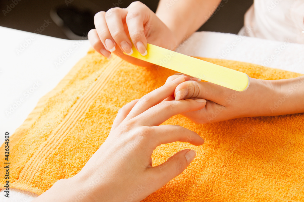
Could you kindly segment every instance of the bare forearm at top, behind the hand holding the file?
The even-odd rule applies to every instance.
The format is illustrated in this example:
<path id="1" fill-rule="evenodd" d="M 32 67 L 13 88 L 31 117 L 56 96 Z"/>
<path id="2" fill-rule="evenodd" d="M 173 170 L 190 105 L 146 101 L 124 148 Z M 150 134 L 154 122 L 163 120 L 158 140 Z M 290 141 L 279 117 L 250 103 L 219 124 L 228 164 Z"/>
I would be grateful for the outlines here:
<path id="1" fill-rule="evenodd" d="M 220 0 L 160 0 L 156 15 L 171 29 L 178 43 L 201 27 Z"/>

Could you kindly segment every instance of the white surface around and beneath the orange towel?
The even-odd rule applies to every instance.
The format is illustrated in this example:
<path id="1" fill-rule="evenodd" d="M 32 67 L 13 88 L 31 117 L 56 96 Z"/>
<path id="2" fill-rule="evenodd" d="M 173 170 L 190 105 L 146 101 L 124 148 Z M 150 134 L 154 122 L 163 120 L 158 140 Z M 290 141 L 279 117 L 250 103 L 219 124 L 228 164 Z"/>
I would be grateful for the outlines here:
<path id="1" fill-rule="evenodd" d="M 90 45 L 88 40 L 64 40 L 4 27 L 0 27 L 0 36 L 0 142 L 3 143 L 4 133 L 9 131 L 13 134 L 39 98 L 51 91 L 74 64 L 86 55 Z M 24 50 L 22 46 L 26 46 Z M 65 57 L 69 51 L 71 54 Z M 302 44 L 196 32 L 177 51 L 186 55 L 244 61 L 304 74 Z M 63 61 L 59 61 L 60 58 Z M 62 63 L 58 65 L 56 62 Z M 23 101 L 18 102 L 20 99 Z M 11 114 L 7 113 L 11 107 Z M 3 190 L 0 191 L 0 201 L 26 202 L 36 197 L 30 192 L 16 189 L 10 189 L 9 196 L 4 197 Z"/>

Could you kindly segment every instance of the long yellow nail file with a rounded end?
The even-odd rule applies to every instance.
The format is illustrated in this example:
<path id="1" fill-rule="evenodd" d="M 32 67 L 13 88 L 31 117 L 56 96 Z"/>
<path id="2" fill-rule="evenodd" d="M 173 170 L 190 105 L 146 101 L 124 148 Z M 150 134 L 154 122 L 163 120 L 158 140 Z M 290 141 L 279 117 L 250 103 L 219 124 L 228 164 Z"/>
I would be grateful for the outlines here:
<path id="1" fill-rule="evenodd" d="M 130 56 L 134 58 L 200 78 L 235 91 L 245 91 L 249 86 L 249 76 L 243 72 L 170 51 L 166 48 L 148 44 L 148 54 L 145 56 L 142 56 L 134 45 L 132 50 L 133 54 Z"/>

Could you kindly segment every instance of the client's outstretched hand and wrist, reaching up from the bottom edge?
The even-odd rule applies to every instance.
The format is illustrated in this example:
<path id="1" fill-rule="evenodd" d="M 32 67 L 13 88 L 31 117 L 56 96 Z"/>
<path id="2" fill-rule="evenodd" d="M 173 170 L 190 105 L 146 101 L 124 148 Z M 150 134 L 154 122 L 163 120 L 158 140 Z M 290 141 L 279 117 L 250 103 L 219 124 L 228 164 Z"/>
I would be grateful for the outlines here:
<path id="1" fill-rule="evenodd" d="M 195 158 L 194 150 L 179 151 L 155 167 L 151 155 L 161 144 L 204 143 L 194 131 L 178 125 L 160 126 L 176 114 L 205 107 L 203 99 L 168 100 L 185 78 L 189 79 L 171 76 L 160 88 L 121 108 L 109 136 L 82 170 L 57 181 L 36 201 L 140 201 L 184 171 Z"/>

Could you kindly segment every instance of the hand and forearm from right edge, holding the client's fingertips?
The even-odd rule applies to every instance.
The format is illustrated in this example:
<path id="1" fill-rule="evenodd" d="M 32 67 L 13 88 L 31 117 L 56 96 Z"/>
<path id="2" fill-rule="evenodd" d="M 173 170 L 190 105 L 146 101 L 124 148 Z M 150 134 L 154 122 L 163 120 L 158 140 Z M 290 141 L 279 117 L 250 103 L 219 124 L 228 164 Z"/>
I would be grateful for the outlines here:
<path id="1" fill-rule="evenodd" d="M 304 112 L 304 76 L 274 81 L 250 78 L 250 85 L 243 92 L 209 82 L 185 81 L 178 85 L 174 95 L 175 100 L 207 100 L 205 108 L 182 114 L 199 124 L 301 113 Z"/>

